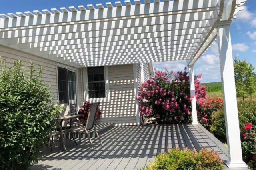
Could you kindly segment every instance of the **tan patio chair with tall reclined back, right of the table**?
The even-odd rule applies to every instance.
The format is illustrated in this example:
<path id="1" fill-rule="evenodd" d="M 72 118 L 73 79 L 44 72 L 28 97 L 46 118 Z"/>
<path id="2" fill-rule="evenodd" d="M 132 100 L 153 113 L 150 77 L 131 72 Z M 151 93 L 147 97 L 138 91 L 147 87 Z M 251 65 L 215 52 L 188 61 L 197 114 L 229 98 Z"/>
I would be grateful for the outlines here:
<path id="1" fill-rule="evenodd" d="M 79 142 L 81 143 L 81 134 L 83 132 L 85 132 L 90 140 L 90 143 L 92 144 L 92 147 L 94 148 L 94 145 L 92 143 L 92 140 L 90 138 L 90 130 L 94 129 L 95 132 L 96 132 L 96 135 L 98 136 L 98 139 L 100 140 L 100 136 L 96 130 L 96 128 L 94 127 L 94 122 L 95 122 L 95 117 L 96 117 L 96 112 L 98 110 L 98 106 L 99 106 L 100 102 L 97 102 L 97 103 L 92 103 L 91 105 L 91 108 L 90 108 L 90 112 L 89 112 L 89 115 L 88 115 L 88 118 L 87 118 L 87 122 L 86 122 L 86 126 L 84 126 L 83 124 L 81 124 L 80 122 L 73 122 L 74 124 L 78 125 L 77 127 L 74 127 L 74 128 L 70 128 L 70 129 L 67 129 L 67 125 L 70 124 L 70 122 L 67 123 L 66 125 L 66 128 L 65 128 L 65 136 L 64 136 L 64 139 L 66 139 L 66 134 L 68 132 L 70 132 L 70 134 L 72 133 L 79 133 Z M 65 141 L 64 141 L 65 142 Z M 75 139 L 74 139 L 74 142 L 75 142 Z M 101 146 L 103 145 L 101 140 L 100 140 L 100 144 Z M 95 149 L 95 148 L 94 148 Z"/>

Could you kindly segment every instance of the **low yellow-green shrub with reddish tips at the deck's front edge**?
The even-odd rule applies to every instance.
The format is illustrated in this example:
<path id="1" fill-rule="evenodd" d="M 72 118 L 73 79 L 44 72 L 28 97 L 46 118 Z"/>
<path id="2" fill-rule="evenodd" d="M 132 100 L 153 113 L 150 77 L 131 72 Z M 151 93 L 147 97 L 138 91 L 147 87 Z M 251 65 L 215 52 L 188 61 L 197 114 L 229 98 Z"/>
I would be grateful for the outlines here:
<path id="1" fill-rule="evenodd" d="M 147 170 L 222 170 L 223 161 L 214 151 L 202 148 L 200 152 L 188 148 L 172 148 L 168 153 L 159 153 L 150 162 Z M 142 168 L 144 169 L 144 168 Z"/>

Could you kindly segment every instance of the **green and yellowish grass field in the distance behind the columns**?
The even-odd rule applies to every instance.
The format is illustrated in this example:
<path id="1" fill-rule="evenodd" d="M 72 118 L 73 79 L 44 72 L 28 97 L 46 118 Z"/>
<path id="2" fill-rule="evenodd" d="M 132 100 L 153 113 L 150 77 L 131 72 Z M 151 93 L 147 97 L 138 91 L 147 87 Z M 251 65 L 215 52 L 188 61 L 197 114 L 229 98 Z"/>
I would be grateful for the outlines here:
<path id="1" fill-rule="evenodd" d="M 222 97 L 222 85 L 221 82 L 212 82 L 212 83 L 201 83 L 207 87 L 207 99 L 210 98 L 223 98 Z M 237 98 L 238 101 L 242 101 L 242 98 Z M 244 100 L 251 100 L 251 97 L 245 98 Z M 256 93 L 252 94 L 252 100 L 256 101 Z"/>

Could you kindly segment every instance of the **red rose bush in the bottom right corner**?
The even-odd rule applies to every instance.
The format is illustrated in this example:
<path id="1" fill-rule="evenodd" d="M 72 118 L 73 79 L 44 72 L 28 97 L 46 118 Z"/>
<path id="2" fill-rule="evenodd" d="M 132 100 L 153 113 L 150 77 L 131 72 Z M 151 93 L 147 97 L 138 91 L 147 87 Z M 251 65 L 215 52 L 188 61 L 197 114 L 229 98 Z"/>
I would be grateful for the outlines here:
<path id="1" fill-rule="evenodd" d="M 250 147 L 247 148 L 247 150 L 250 152 L 250 161 L 248 165 L 252 169 L 256 169 L 256 133 L 255 133 L 255 127 L 253 127 L 251 124 L 246 124 L 244 128 L 241 130 L 244 132 L 242 134 L 243 142 L 247 142 L 250 144 Z"/>

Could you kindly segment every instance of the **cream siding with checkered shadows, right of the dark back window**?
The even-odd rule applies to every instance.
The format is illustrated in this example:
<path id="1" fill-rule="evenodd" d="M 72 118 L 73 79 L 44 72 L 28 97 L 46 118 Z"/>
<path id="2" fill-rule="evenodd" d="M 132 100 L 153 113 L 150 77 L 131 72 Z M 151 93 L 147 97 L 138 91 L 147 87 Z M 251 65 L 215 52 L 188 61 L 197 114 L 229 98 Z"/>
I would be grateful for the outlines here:
<path id="1" fill-rule="evenodd" d="M 108 76 L 109 102 L 100 103 L 102 116 L 98 122 L 136 124 L 133 65 L 108 66 Z"/>

